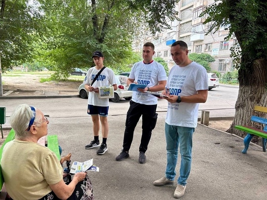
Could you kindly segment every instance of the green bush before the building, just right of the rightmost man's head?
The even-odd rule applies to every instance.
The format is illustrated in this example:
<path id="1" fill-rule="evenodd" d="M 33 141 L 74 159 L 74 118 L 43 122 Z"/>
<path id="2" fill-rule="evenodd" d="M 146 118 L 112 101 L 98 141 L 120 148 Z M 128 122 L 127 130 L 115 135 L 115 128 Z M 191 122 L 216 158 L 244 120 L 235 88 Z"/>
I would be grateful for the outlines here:
<path id="1" fill-rule="evenodd" d="M 214 62 L 215 59 L 208 53 L 190 53 L 189 59 L 202 65 L 207 72 L 211 72 L 210 63 Z"/>

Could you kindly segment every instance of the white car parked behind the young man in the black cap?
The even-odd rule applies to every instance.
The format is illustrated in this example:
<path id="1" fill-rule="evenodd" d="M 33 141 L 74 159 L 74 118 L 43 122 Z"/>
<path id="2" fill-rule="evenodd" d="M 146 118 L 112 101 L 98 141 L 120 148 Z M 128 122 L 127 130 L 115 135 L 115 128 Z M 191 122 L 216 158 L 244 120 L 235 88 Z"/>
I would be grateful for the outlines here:
<path id="1" fill-rule="evenodd" d="M 111 98 L 110 100 L 112 102 L 119 102 L 120 99 L 125 98 L 125 100 L 130 101 L 133 96 L 133 91 L 128 91 L 128 86 L 126 84 L 128 77 L 122 76 L 122 75 L 115 75 L 115 80 L 117 83 L 118 88 L 114 91 L 114 98 Z M 88 90 L 85 89 L 85 83 L 82 83 L 79 86 L 79 94 L 80 97 L 83 99 L 88 98 Z"/>

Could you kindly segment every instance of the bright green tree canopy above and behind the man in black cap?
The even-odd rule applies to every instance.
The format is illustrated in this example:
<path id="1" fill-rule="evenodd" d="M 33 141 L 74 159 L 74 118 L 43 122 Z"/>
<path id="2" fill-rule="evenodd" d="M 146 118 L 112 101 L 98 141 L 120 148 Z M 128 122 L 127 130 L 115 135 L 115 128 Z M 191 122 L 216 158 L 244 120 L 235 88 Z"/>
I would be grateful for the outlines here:
<path id="1" fill-rule="evenodd" d="M 2 0 L 3 71 L 27 63 L 30 70 L 54 70 L 52 77 L 64 80 L 76 67 L 93 66 L 95 50 L 104 53 L 105 65 L 129 71 L 137 60 L 132 52 L 134 37 L 170 28 L 167 18 L 178 20 L 178 1 Z"/>

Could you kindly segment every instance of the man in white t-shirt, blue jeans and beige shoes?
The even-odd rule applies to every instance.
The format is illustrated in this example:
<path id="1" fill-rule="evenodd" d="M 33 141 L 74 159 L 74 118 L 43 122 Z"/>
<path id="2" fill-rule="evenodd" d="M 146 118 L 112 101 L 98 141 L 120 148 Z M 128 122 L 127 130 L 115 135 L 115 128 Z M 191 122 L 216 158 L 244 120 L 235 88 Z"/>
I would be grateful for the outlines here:
<path id="1" fill-rule="evenodd" d="M 172 44 L 171 54 L 176 65 L 170 70 L 163 95 L 168 101 L 165 120 L 167 167 L 165 176 L 154 181 L 155 186 L 173 184 L 176 176 L 178 147 L 181 163 L 175 198 L 184 195 L 186 180 L 191 169 L 192 136 L 197 126 L 199 103 L 208 97 L 206 69 L 188 58 L 187 44 L 178 40 Z"/>

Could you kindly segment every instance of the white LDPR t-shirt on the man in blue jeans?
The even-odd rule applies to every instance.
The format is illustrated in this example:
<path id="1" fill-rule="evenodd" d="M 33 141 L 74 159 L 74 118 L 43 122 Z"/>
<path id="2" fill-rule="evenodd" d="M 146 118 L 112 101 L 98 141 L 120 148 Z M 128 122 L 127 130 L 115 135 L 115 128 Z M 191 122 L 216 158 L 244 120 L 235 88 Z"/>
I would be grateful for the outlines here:
<path id="1" fill-rule="evenodd" d="M 166 88 L 170 94 L 177 96 L 190 96 L 197 94 L 198 90 L 207 90 L 208 74 L 206 69 L 192 62 L 185 67 L 175 65 L 169 73 Z M 166 123 L 184 127 L 196 127 L 199 103 L 170 103 Z"/>

